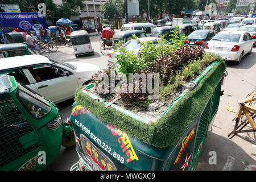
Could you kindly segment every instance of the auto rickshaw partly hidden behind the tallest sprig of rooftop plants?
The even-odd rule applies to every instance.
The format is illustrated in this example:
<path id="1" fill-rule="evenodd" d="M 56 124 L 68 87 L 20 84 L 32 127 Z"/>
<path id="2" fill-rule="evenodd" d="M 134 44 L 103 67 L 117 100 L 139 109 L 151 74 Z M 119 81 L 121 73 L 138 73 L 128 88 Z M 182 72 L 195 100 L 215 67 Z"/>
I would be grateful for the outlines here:
<path id="1" fill-rule="evenodd" d="M 174 26 L 155 27 L 152 31 L 152 36 L 160 38 L 160 36 L 163 35 L 164 39 L 170 42 L 172 38 L 171 35 L 174 34 L 175 29 Z"/>

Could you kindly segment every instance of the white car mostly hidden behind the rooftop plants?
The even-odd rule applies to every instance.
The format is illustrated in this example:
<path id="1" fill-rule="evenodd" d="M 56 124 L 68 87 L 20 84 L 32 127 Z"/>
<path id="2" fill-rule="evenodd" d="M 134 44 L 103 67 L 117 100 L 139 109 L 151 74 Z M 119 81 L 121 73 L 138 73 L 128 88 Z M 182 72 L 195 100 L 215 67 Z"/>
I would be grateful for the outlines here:
<path id="1" fill-rule="evenodd" d="M 140 42 L 151 42 L 155 44 L 156 42 L 160 41 L 161 38 L 155 38 L 155 37 L 144 37 L 144 38 L 138 38 Z M 163 44 L 170 44 L 167 40 L 164 40 Z M 134 53 L 138 53 L 141 49 L 141 44 L 137 42 L 137 40 L 129 40 L 125 44 L 123 44 L 123 47 L 125 47 L 128 51 L 134 51 Z M 108 62 L 110 65 L 115 63 L 115 57 L 119 54 L 118 51 L 110 51 L 108 53 Z"/>

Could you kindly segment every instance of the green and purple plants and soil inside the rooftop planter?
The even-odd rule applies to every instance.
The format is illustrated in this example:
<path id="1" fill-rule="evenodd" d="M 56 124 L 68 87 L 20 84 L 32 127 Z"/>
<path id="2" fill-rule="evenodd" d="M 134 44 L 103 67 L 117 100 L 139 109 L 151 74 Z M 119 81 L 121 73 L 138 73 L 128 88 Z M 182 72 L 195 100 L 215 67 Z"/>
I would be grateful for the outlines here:
<path id="1" fill-rule="evenodd" d="M 105 98 L 106 101 L 114 100 L 115 104 L 143 117 L 146 115 L 150 118 L 159 117 L 184 91 L 184 86 L 188 82 L 199 76 L 213 61 L 222 60 L 220 56 L 213 53 L 205 53 L 201 46 L 185 46 L 186 37 L 179 36 L 178 32 L 172 32 L 171 44 L 167 44 L 163 36 L 154 44 L 139 42 L 139 39 L 134 37 L 141 44 L 141 50 L 137 54 L 119 47 L 117 50 L 119 54 L 116 57 L 117 67 L 108 65 L 103 71 L 95 73 L 92 76 L 95 86 L 90 91 Z M 133 77 L 129 77 L 129 73 L 133 73 Z M 141 76 L 139 79 L 134 78 L 136 73 L 137 76 Z M 156 74 L 158 78 L 154 80 Z M 106 82 L 102 84 L 106 76 L 109 78 L 108 84 Z M 152 90 L 143 92 L 147 89 L 143 86 L 148 86 L 143 85 L 148 76 L 152 76 L 150 78 Z M 154 87 L 156 86 L 154 81 L 158 82 L 157 88 Z M 114 90 L 111 90 L 113 85 Z M 129 89 L 132 92 L 129 92 Z M 136 89 L 138 92 L 135 92 Z M 152 93 L 154 89 L 158 89 L 157 97 L 149 99 L 152 94 L 155 94 L 155 92 Z"/>

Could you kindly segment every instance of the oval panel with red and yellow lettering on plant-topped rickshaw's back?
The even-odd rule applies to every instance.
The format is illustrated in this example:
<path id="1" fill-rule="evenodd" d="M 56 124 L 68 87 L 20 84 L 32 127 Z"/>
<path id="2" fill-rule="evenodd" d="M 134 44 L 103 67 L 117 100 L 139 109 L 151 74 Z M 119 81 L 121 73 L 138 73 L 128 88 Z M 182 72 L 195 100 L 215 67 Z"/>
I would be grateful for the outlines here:
<path id="1" fill-rule="evenodd" d="M 85 158 L 100 171 L 116 171 L 114 163 L 98 149 L 85 135 L 80 135 L 81 147 Z"/>

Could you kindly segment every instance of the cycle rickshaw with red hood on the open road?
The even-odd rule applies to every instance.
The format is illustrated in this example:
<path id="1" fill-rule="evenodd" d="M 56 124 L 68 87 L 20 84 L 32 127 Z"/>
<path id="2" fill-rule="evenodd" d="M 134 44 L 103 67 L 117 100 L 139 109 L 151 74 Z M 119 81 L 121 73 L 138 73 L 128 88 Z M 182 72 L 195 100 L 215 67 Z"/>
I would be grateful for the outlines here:
<path id="1" fill-rule="evenodd" d="M 106 49 L 112 49 L 113 46 L 113 35 L 115 32 L 107 27 L 102 30 L 102 43 L 101 43 L 101 53 L 105 54 Z"/>

